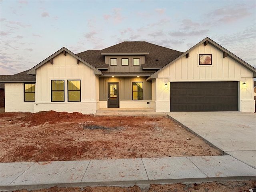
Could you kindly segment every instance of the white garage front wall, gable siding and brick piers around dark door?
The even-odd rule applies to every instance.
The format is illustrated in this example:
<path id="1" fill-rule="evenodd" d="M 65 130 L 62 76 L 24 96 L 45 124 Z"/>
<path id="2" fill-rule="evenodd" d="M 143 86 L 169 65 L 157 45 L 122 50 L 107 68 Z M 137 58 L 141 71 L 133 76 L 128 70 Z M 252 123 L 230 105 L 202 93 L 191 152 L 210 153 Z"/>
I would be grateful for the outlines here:
<path id="1" fill-rule="evenodd" d="M 212 65 L 199 65 L 199 54 L 212 54 Z M 223 58 L 223 52 L 211 44 L 197 46 L 190 51 L 188 58 L 183 56 L 158 73 L 156 100 L 170 106 L 169 82 L 196 81 L 237 81 L 239 111 L 255 112 L 253 72 L 230 56 Z M 166 82 L 167 89 L 164 87 Z M 243 82 L 246 82 L 246 87 Z M 166 110 L 165 105 L 156 106 L 156 110 Z"/>

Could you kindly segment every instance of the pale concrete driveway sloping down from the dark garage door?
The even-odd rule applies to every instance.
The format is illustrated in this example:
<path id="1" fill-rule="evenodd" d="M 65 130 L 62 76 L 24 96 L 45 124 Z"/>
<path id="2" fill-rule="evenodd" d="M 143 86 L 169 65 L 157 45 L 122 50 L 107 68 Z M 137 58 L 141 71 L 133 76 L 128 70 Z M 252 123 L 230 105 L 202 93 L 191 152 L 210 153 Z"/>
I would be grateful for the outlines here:
<path id="1" fill-rule="evenodd" d="M 172 119 L 223 154 L 256 168 L 256 114 L 251 112 L 169 112 Z"/>

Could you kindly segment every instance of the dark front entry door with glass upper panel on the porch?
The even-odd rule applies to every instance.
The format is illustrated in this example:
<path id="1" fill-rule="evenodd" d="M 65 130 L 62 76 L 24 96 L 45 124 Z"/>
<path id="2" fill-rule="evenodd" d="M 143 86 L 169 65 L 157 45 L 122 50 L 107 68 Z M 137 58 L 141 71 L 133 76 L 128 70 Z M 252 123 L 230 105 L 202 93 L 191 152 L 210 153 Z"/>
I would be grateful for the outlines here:
<path id="1" fill-rule="evenodd" d="M 118 83 L 108 83 L 108 108 L 119 108 Z"/>

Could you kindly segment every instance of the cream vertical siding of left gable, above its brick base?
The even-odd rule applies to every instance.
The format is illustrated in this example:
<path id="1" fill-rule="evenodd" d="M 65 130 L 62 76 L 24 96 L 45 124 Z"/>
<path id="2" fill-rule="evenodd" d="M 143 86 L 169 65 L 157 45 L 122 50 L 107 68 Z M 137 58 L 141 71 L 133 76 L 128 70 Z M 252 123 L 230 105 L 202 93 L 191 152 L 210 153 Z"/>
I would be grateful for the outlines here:
<path id="1" fill-rule="evenodd" d="M 51 80 L 64 80 L 65 102 L 68 102 L 67 80 L 81 80 L 81 102 L 96 100 L 96 79 L 93 70 L 85 64 L 76 63 L 76 58 L 59 54 L 50 62 L 36 70 L 38 86 L 37 102 L 51 102 Z M 98 97 L 98 94 L 97 94 Z"/>

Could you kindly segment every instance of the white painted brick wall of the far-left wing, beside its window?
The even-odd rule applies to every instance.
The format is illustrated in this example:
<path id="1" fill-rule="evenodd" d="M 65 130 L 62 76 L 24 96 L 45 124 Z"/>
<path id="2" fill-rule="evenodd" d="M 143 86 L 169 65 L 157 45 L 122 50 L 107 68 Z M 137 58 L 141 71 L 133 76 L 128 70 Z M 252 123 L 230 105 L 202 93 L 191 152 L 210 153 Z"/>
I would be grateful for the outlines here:
<path id="1" fill-rule="evenodd" d="M 34 113 L 34 102 L 24 102 L 24 83 L 5 83 L 5 112 Z"/>

